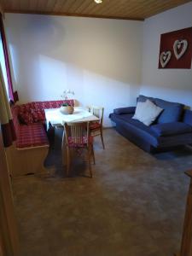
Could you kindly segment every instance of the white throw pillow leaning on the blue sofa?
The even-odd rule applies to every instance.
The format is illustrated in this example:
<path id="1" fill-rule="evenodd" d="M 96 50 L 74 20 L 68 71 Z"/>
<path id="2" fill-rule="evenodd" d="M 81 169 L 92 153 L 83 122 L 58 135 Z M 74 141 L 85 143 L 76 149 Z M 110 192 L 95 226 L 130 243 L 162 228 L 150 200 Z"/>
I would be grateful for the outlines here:
<path id="1" fill-rule="evenodd" d="M 137 119 L 144 125 L 151 125 L 161 111 L 163 111 L 162 108 L 156 106 L 149 100 L 146 102 L 138 102 L 136 112 L 132 119 Z"/>

